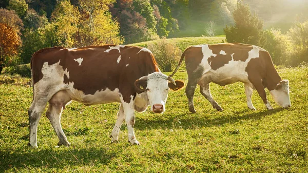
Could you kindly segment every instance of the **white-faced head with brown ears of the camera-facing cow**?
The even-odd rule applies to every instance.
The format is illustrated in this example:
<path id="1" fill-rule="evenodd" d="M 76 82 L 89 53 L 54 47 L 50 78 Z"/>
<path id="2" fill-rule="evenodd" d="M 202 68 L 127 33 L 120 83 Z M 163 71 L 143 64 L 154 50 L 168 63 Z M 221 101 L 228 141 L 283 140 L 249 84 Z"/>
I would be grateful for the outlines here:
<path id="1" fill-rule="evenodd" d="M 153 72 L 143 76 L 134 85 L 138 93 L 147 92 L 151 111 L 156 113 L 165 111 L 169 88 L 176 91 L 184 87 L 182 81 L 175 81 L 161 72 Z"/>

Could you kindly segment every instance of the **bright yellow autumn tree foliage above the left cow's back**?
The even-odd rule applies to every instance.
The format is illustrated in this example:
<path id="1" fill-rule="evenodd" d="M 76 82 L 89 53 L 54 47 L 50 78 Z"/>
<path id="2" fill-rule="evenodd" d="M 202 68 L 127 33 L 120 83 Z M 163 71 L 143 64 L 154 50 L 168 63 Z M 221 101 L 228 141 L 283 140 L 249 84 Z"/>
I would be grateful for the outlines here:
<path id="1" fill-rule="evenodd" d="M 61 1 L 52 13 L 51 30 L 55 42 L 63 47 L 121 44 L 119 24 L 108 12 L 113 0 L 80 1 L 80 9 Z M 46 30 L 47 31 L 47 30 Z"/>

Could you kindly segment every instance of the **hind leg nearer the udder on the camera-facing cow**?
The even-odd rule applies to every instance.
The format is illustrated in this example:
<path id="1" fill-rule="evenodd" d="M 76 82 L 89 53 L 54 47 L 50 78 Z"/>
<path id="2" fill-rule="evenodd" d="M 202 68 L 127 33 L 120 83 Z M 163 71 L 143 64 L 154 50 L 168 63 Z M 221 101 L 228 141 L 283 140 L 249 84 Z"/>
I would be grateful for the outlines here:
<path id="1" fill-rule="evenodd" d="M 46 111 L 46 117 L 49 119 L 56 136 L 59 138 L 59 142 L 57 145 L 65 145 L 70 146 L 70 143 L 67 141 L 66 136 L 62 130 L 61 126 L 61 114 L 62 114 L 63 107 L 60 105 L 51 105 L 49 104 L 49 107 Z"/>

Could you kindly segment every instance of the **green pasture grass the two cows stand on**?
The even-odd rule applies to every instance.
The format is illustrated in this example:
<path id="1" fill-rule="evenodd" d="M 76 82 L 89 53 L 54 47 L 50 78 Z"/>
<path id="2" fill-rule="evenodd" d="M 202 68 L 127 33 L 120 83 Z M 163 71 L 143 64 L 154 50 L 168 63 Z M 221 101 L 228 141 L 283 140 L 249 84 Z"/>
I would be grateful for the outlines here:
<path id="1" fill-rule="evenodd" d="M 224 108 L 218 112 L 196 89 L 197 113 L 188 111 L 184 89 L 169 92 L 166 112 L 137 113 L 140 146 L 109 135 L 119 104 L 84 106 L 73 102 L 62 114 L 70 147 L 58 139 L 45 114 L 38 125 L 38 148 L 27 146 L 29 78 L 0 75 L 0 172 L 306 172 L 308 170 L 308 67 L 279 68 L 290 80 L 290 109 L 267 111 L 254 91 L 256 111 L 246 106 L 241 83 L 210 84 Z M 167 73 L 169 74 L 169 73 Z M 181 70 L 175 79 L 187 83 Z"/>

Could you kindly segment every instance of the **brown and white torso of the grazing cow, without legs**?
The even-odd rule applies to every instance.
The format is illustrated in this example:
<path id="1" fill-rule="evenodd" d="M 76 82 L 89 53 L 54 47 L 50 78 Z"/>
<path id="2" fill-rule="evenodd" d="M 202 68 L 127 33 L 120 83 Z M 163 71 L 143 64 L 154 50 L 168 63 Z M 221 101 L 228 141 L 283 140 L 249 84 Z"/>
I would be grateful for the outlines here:
<path id="1" fill-rule="evenodd" d="M 267 59 L 271 56 L 264 49 L 239 43 L 192 46 L 185 53 L 188 76 L 200 73 L 219 85 L 248 82 L 247 68 L 265 71 Z"/>

